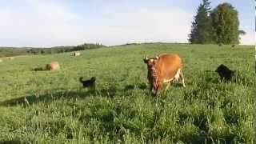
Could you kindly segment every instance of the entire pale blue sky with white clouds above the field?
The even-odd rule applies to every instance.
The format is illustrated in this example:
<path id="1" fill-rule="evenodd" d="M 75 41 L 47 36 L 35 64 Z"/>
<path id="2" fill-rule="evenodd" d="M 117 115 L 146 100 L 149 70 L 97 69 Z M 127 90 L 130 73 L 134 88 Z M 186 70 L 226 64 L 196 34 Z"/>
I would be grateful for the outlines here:
<path id="1" fill-rule="evenodd" d="M 201 0 L 2 0 L 0 46 L 73 46 L 101 42 L 187 42 Z M 254 44 L 254 1 L 229 2 L 242 44 Z"/>

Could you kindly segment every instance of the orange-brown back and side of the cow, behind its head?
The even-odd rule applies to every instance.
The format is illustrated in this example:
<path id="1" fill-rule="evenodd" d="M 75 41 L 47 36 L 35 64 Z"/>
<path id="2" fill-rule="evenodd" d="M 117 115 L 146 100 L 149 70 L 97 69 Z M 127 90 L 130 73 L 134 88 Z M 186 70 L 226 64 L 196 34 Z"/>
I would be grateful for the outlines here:
<path id="1" fill-rule="evenodd" d="M 158 57 L 159 77 L 164 79 L 174 78 L 178 70 L 182 68 L 182 59 L 179 58 L 178 54 L 162 54 Z"/>

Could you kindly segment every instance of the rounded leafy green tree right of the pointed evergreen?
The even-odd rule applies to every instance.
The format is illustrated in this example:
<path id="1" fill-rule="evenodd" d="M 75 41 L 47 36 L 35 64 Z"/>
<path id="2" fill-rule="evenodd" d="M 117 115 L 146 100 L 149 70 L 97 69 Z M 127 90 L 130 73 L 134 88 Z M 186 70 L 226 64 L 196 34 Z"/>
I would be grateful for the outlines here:
<path id="1" fill-rule="evenodd" d="M 218 44 L 239 43 L 238 11 L 230 3 L 222 3 L 211 12 L 214 41 Z"/>

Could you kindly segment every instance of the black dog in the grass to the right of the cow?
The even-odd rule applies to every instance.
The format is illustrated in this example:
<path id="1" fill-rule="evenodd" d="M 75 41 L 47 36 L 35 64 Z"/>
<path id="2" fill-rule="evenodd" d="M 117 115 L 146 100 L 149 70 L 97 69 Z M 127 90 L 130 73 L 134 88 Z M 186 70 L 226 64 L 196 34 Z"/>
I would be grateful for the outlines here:
<path id="1" fill-rule="evenodd" d="M 234 77 L 234 70 L 230 70 L 228 67 L 221 64 L 218 66 L 217 70 L 215 72 L 218 73 L 218 75 L 221 77 L 221 79 L 225 81 L 230 81 Z"/>

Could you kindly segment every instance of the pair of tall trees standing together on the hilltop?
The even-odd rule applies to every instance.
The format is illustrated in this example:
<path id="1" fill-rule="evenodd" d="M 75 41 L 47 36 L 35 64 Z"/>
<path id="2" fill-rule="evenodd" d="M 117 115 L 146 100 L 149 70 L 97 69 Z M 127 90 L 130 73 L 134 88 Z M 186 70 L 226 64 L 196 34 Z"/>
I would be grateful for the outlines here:
<path id="1" fill-rule="evenodd" d="M 238 26 L 238 11 L 230 3 L 219 4 L 212 10 L 210 1 L 202 0 L 192 22 L 189 41 L 235 45 L 239 43 L 239 34 L 246 34 Z"/>

